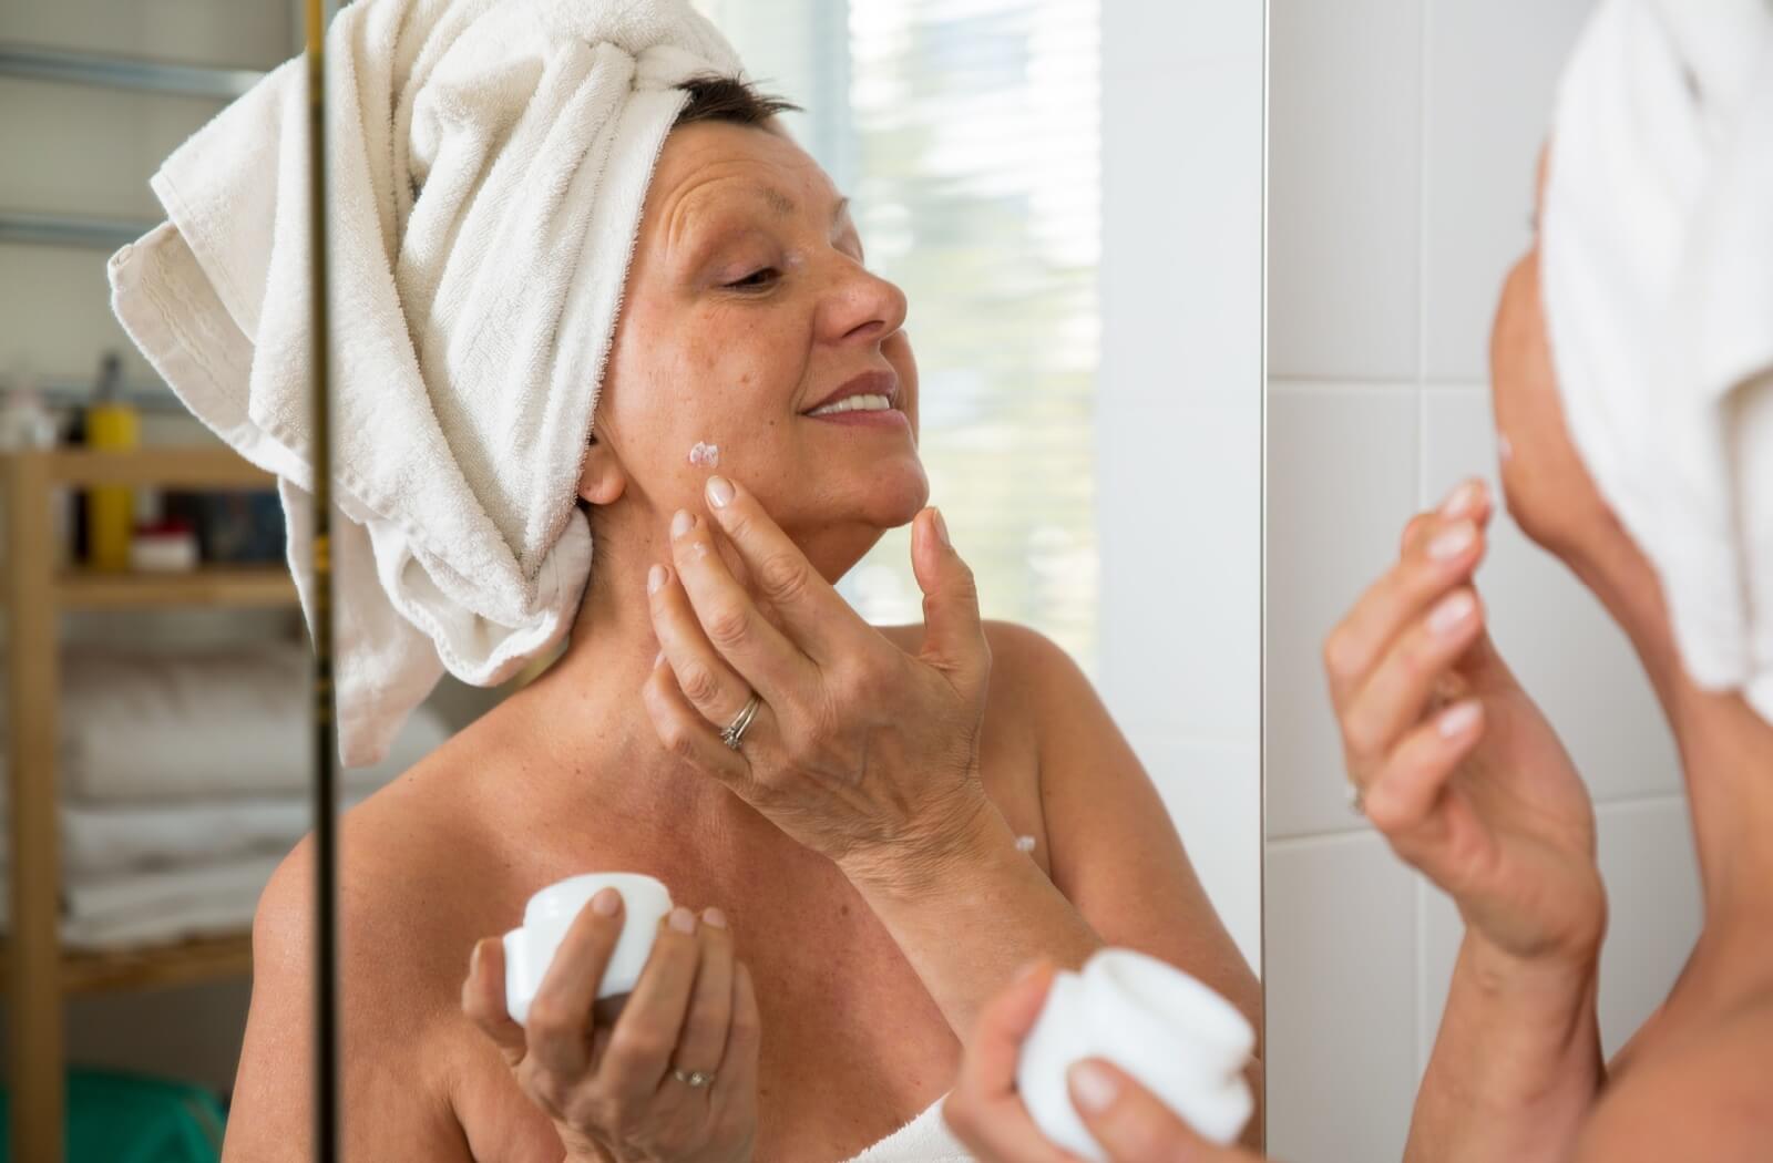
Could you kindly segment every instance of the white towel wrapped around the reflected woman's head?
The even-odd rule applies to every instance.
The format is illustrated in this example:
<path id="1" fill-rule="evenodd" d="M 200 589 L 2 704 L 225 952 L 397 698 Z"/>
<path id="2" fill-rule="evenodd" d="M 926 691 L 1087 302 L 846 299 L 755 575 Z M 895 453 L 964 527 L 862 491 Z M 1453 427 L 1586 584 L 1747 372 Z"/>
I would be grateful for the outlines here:
<path id="1" fill-rule="evenodd" d="M 326 34 L 344 762 L 447 668 L 555 644 L 590 569 L 576 509 L 640 209 L 686 101 L 739 64 L 688 0 L 358 0 Z M 312 617 L 305 64 L 152 177 L 168 222 L 112 305 L 179 399 L 278 475 Z"/>

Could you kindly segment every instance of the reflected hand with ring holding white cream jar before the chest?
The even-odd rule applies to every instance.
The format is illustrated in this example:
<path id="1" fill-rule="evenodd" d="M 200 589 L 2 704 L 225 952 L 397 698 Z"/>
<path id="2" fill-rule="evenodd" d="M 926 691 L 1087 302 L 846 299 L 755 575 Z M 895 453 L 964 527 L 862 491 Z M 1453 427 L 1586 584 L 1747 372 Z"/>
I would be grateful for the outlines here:
<path id="1" fill-rule="evenodd" d="M 574 918 L 528 1028 L 505 1011 L 505 950 L 475 945 L 463 1012 L 491 1037 L 523 1092 L 553 1119 L 569 1163 L 730 1163 L 757 1136 L 757 996 L 720 909 L 674 909 L 613 1025 L 594 1014 L 622 933 L 613 888 Z M 691 1087 L 686 1078 L 711 1081 Z"/>

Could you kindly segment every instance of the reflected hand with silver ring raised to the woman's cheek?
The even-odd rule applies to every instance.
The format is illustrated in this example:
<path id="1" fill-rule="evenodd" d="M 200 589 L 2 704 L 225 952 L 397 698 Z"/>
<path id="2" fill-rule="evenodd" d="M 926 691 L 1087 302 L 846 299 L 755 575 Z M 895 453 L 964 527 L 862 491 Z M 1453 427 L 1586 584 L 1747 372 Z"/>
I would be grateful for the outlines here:
<path id="1" fill-rule="evenodd" d="M 988 807 L 979 729 L 991 672 L 973 574 L 940 514 L 913 523 L 926 635 L 908 654 L 849 608 L 752 493 L 711 477 L 707 507 L 755 596 L 709 519 L 679 512 L 676 567 L 654 566 L 647 582 L 663 652 L 645 702 L 660 739 L 851 881 L 911 888 L 936 874 Z M 754 693 L 755 720 L 729 748 L 722 729 Z"/>

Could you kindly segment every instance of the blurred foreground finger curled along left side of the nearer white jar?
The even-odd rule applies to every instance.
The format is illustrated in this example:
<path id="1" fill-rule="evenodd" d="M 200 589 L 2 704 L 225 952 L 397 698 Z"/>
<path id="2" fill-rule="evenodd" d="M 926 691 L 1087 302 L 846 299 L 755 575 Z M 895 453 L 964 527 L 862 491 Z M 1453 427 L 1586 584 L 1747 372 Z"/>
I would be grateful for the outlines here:
<path id="1" fill-rule="evenodd" d="M 980 1012 L 961 1060 L 961 1074 L 941 1106 L 961 1142 L 980 1159 L 1016 1163 L 1062 1163 L 1071 1156 L 1055 1147 L 1028 1115 L 1016 1092 L 1016 1064 L 1028 1037 L 1055 966 L 1039 961 L 1012 980 Z"/>

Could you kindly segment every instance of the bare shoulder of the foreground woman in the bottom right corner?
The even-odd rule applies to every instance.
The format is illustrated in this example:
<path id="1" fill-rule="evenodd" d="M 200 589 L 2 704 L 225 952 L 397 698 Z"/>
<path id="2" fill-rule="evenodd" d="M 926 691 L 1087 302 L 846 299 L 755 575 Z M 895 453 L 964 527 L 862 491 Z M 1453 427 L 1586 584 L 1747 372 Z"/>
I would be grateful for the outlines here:
<path id="1" fill-rule="evenodd" d="M 1773 1142 L 1773 993 L 1668 1039 L 1608 1085 L 1582 1136 L 1582 1163 L 1766 1159 Z"/>

